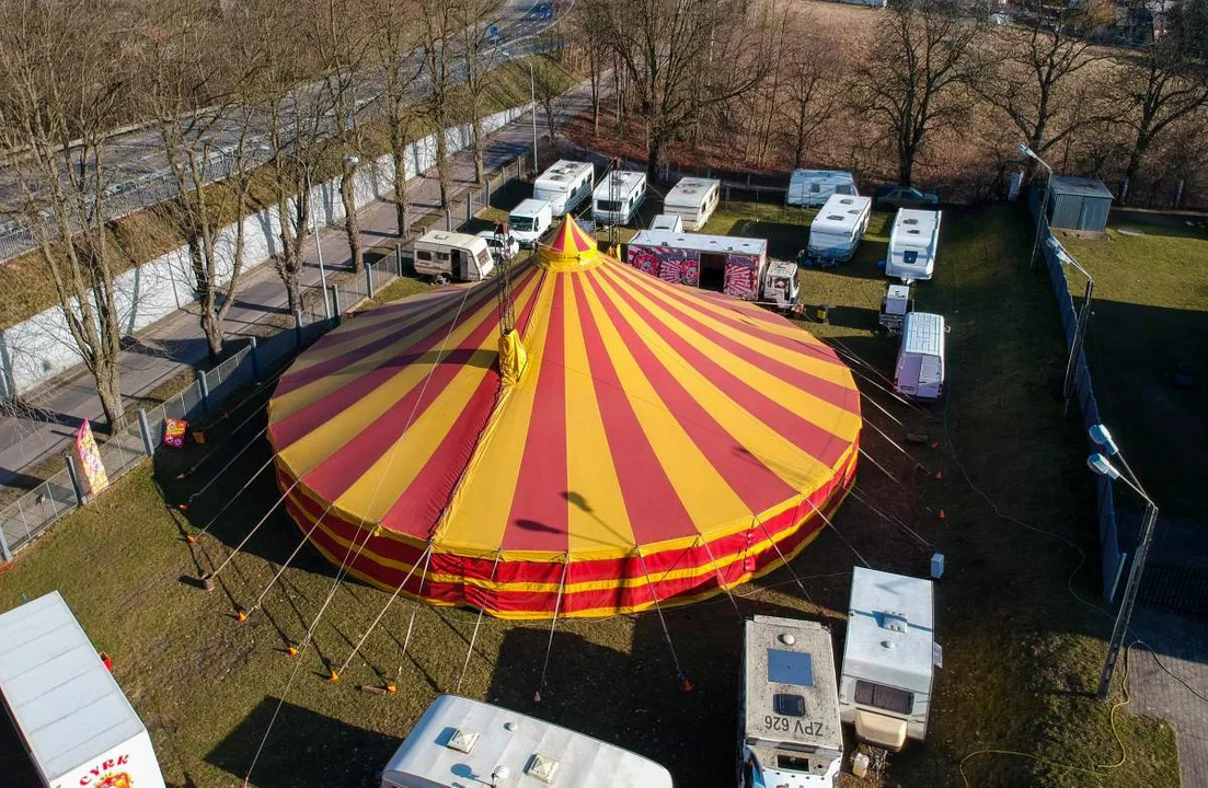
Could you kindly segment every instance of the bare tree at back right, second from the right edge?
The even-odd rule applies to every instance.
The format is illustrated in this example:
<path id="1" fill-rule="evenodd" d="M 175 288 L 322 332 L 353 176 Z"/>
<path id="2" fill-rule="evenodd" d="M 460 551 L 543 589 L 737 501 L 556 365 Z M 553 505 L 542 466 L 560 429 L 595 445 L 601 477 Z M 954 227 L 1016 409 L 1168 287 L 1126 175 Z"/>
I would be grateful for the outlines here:
<path id="1" fill-rule="evenodd" d="M 982 53 L 986 68 L 975 88 L 1018 129 L 1028 147 L 1044 154 L 1069 135 L 1114 117 L 1097 106 L 1098 81 L 1081 78 L 1105 58 L 1091 33 L 1111 18 L 1113 6 L 1109 0 L 1090 0 L 1053 10 L 1044 0 L 1026 0 L 1017 10 L 1015 24 L 998 29 Z"/>

